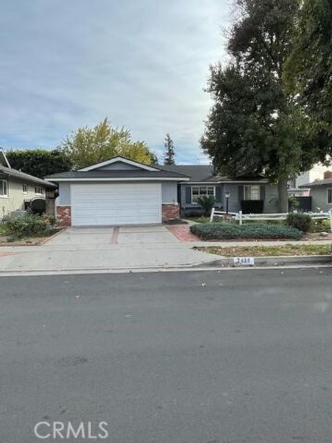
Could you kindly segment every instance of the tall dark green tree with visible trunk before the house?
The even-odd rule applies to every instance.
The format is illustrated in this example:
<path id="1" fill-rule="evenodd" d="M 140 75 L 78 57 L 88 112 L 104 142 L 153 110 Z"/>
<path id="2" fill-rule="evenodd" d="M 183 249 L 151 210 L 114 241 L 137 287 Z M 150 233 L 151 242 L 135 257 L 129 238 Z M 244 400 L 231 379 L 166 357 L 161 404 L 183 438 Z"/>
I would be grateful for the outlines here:
<path id="1" fill-rule="evenodd" d="M 314 161 L 315 134 L 283 82 L 299 1 L 235 3 L 227 46 L 230 63 L 211 68 L 208 91 L 214 105 L 201 145 L 216 170 L 264 172 L 279 184 L 279 206 L 287 210 L 288 177 Z"/>

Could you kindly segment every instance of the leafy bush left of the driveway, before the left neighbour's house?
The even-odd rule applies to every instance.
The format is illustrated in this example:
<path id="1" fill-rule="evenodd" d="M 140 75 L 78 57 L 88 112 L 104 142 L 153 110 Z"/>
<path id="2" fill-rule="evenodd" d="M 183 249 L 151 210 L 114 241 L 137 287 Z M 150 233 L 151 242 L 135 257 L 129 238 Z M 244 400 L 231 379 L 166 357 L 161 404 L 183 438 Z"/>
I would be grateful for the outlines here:
<path id="1" fill-rule="evenodd" d="M 53 231 L 52 219 L 35 214 L 9 219 L 5 224 L 6 234 L 15 238 L 44 237 Z"/>

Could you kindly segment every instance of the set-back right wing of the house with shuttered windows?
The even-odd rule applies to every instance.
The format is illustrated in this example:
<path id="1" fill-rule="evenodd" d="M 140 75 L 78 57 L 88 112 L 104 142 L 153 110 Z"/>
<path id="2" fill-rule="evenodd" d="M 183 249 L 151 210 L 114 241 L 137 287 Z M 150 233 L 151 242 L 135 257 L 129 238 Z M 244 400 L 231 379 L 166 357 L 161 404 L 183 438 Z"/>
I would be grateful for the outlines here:
<path id="1" fill-rule="evenodd" d="M 214 206 L 221 210 L 226 210 L 227 195 L 229 212 L 243 209 L 243 200 L 260 200 L 264 213 L 279 210 L 278 188 L 264 177 L 221 177 L 210 165 L 164 165 L 163 169 L 189 177 L 189 181 L 178 184 L 182 217 L 201 214 L 198 200 L 205 195 L 214 196 Z"/>

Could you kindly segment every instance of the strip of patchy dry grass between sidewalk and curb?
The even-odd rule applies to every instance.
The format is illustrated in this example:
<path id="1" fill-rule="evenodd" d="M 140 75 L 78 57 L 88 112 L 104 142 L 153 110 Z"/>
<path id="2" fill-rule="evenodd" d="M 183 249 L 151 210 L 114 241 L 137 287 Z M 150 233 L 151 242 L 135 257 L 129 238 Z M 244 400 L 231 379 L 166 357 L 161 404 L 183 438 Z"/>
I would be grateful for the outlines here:
<path id="1" fill-rule="evenodd" d="M 329 244 L 283 244 L 281 246 L 207 246 L 195 247 L 197 251 L 223 257 L 271 257 L 283 255 L 329 255 Z"/>

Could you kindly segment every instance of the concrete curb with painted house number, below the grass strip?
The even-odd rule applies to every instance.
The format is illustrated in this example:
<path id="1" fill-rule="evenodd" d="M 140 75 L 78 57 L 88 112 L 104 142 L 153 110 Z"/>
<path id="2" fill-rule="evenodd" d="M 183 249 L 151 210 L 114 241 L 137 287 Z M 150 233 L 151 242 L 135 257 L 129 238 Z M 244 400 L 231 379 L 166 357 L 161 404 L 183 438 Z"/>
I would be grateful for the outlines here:
<path id="1" fill-rule="evenodd" d="M 260 266 L 285 266 L 285 265 L 319 265 L 332 264 L 332 255 L 287 255 L 287 256 L 273 256 L 273 257 L 255 257 L 255 264 L 250 267 Z M 194 265 L 196 266 L 196 265 Z M 201 264 L 200 266 L 209 267 L 234 267 L 234 268 L 248 268 L 248 265 L 234 264 L 233 257 L 223 257 L 219 260 L 212 260 L 210 262 Z"/>

